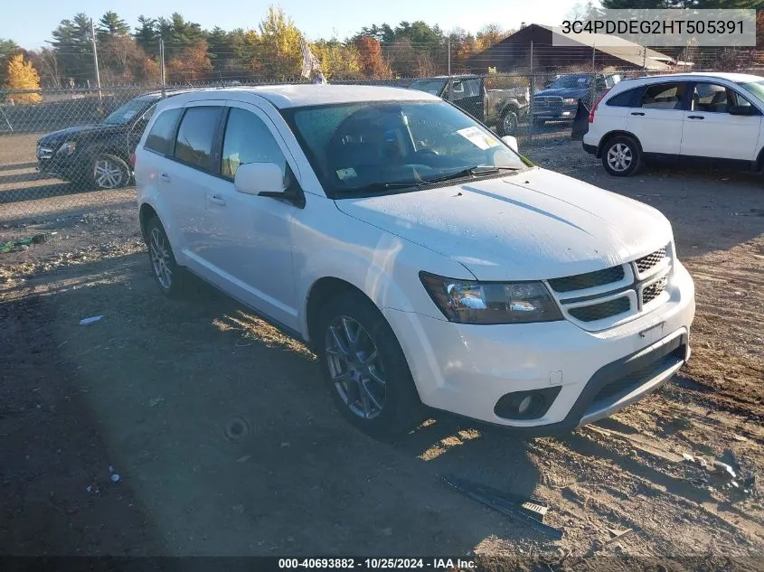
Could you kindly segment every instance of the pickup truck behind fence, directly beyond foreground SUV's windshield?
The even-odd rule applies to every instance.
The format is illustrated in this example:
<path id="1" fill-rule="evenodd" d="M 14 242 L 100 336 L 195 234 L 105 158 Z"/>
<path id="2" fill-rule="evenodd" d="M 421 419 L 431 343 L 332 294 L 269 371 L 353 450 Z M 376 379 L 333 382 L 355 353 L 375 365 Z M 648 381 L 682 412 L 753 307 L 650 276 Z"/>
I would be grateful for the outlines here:
<path id="1" fill-rule="evenodd" d="M 500 136 L 514 135 L 527 116 L 531 98 L 528 88 L 500 89 L 501 76 L 450 76 L 450 86 L 448 80 L 449 76 L 417 80 L 410 89 L 450 101 L 488 127 L 495 126 Z"/>

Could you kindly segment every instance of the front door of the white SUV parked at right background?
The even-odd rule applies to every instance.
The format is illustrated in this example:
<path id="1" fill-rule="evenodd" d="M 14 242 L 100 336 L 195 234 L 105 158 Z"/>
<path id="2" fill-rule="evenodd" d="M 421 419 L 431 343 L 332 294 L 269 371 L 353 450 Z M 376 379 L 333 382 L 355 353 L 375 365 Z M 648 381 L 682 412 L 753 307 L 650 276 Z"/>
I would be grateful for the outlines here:
<path id="1" fill-rule="evenodd" d="M 730 115 L 730 106 L 750 108 L 752 115 Z M 682 155 L 754 161 L 761 113 L 735 89 L 699 81 L 693 85 L 690 109 L 684 112 Z"/>

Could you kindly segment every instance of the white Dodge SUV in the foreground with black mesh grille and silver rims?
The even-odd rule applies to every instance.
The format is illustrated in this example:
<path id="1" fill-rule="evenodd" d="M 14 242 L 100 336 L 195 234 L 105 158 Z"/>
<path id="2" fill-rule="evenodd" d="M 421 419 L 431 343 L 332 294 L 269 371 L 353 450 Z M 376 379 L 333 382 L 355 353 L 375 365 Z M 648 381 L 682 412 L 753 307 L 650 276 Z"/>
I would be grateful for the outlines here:
<path id="1" fill-rule="evenodd" d="M 179 95 L 133 163 L 162 291 L 193 272 L 308 342 L 373 436 L 423 406 L 571 429 L 690 354 L 693 281 L 660 212 L 533 166 L 424 92 Z"/>

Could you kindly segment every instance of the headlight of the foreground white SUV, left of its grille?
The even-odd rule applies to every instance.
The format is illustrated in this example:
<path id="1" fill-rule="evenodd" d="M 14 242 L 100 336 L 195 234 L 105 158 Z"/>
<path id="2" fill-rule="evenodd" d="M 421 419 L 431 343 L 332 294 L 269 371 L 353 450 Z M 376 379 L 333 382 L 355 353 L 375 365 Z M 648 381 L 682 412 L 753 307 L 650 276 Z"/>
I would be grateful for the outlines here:
<path id="1" fill-rule="evenodd" d="M 432 301 L 459 324 L 528 324 L 561 320 L 541 282 L 476 282 L 420 272 Z"/>

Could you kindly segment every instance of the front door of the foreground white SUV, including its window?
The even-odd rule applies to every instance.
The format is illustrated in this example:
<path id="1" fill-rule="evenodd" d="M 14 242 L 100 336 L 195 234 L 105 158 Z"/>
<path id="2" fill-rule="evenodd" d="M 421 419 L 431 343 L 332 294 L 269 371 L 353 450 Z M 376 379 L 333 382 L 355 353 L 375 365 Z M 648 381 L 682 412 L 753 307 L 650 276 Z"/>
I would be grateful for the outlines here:
<path id="1" fill-rule="evenodd" d="M 232 102 L 222 138 L 220 176 L 206 190 L 203 232 L 205 264 L 212 280 L 245 304 L 297 329 L 292 269 L 292 221 L 297 207 L 269 197 L 237 192 L 236 169 L 275 163 L 294 176 L 290 156 L 273 123 L 259 108 Z"/>

